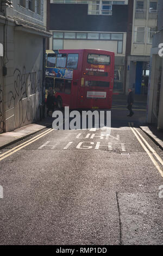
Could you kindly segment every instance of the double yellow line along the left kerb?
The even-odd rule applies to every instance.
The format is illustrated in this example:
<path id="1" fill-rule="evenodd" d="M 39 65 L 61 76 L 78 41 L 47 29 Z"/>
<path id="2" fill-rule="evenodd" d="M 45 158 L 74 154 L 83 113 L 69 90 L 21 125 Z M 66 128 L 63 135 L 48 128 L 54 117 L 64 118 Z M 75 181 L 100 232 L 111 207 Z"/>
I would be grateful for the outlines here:
<path id="1" fill-rule="evenodd" d="M 33 142 L 35 142 L 36 140 L 39 140 L 40 138 L 42 138 L 43 136 L 47 135 L 48 133 L 51 133 L 53 131 L 53 129 L 48 129 L 43 133 L 40 133 L 39 135 L 36 135 L 34 138 L 27 140 L 25 142 L 23 142 L 22 144 L 11 148 L 11 150 L 8 150 L 7 152 L 4 152 L 3 154 L 0 154 L 0 161 L 3 160 L 4 158 L 7 158 L 9 156 L 11 156 L 11 154 L 14 154 L 15 152 L 21 150 L 23 147 L 26 147 L 30 144 L 32 144 Z"/>

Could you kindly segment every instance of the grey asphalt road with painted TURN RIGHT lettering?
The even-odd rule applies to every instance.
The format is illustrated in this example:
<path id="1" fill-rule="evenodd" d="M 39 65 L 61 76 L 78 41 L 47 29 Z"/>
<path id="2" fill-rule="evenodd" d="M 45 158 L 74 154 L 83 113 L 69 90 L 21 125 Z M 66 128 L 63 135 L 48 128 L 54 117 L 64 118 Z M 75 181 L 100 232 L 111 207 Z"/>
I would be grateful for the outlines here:
<path id="1" fill-rule="evenodd" d="M 1 245 L 163 244 L 163 153 L 139 128 L 145 112 L 121 108 L 108 136 L 46 128 L 1 150 Z"/>

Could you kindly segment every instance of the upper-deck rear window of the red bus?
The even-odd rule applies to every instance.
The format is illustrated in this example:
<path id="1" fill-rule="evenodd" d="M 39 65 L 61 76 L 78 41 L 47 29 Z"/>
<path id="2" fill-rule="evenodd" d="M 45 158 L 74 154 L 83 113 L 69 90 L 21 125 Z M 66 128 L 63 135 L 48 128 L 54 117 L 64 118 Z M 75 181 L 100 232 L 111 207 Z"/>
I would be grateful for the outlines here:
<path id="1" fill-rule="evenodd" d="M 89 55 L 87 56 L 87 62 L 91 64 L 109 65 L 110 56 L 89 53 Z"/>

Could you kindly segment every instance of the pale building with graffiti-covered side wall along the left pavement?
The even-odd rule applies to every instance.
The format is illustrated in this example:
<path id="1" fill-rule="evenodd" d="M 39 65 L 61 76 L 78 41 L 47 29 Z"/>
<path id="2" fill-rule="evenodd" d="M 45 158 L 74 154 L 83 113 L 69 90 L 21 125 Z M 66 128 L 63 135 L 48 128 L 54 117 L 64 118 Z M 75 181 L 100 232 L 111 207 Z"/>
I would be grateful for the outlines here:
<path id="1" fill-rule="evenodd" d="M 46 1 L 0 1 L 0 133 L 35 122 L 43 101 Z"/>

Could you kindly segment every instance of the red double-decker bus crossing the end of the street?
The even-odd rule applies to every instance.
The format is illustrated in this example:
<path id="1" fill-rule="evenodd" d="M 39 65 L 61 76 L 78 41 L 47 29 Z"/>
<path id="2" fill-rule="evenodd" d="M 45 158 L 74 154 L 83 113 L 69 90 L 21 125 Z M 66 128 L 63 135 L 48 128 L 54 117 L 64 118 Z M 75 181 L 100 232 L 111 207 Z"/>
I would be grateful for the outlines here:
<path id="1" fill-rule="evenodd" d="M 46 51 L 46 90 L 54 88 L 61 109 L 110 109 L 114 85 L 114 52 Z"/>

